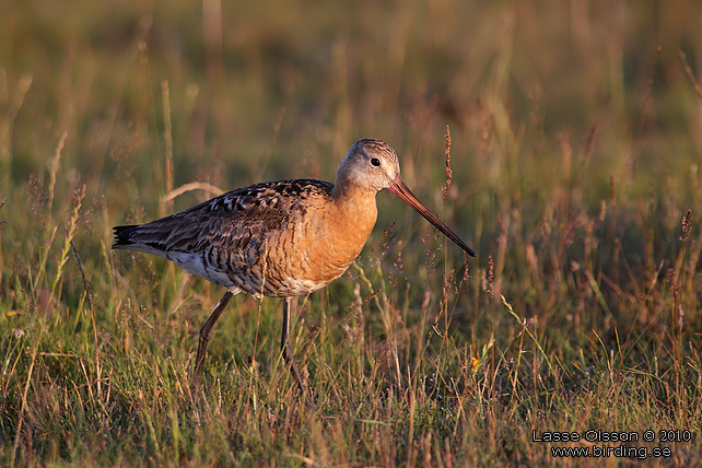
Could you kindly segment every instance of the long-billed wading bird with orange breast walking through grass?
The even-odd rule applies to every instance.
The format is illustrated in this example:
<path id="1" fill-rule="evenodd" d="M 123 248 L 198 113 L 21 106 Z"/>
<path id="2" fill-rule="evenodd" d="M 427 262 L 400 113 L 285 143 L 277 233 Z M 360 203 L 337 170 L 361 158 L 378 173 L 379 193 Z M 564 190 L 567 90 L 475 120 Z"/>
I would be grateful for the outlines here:
<path id="1" fill-rule="evenodd" d="M 324 288 L 349 268 L 375 225 L 375 196 L 384 189 L 476 256 L 405 185 L 395 150 L 373 139 L 353 143 L 334 184 L 296 179 L 238 188 L 147 224 L 116 226 L 112 247 L 160 255 L 226 288 L 200 328 L 195 383 L 212 327 L 234 294 L 282 297 L 281 352 L 305 395 L 288 341 L 292 300 Z"/>

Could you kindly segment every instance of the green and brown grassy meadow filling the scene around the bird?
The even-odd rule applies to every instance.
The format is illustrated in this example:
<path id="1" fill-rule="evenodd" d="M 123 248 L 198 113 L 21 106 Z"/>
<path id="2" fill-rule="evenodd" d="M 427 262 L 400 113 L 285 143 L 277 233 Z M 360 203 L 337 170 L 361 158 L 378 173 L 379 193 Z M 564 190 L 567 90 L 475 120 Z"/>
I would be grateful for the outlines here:
<path id="1" fill-rule="evenodd" d="M 588 431 L 666 451 L 646 465 L 702 464 L 700 13 L 0 7 L 0 464 L 640 463 L 553 456 L 621 442 L 535 441 Z M 233 299 L 192 388 L 223 291 L 112 251 L 110 226 L 211 187 L 332 179 L 362 137 L 395 147 L 478 258 L 381 194 L 356 264 L 299 301 L 316 406 L 272 299 Z M 167 198 L 194 182 L 208 190 Z"/>

